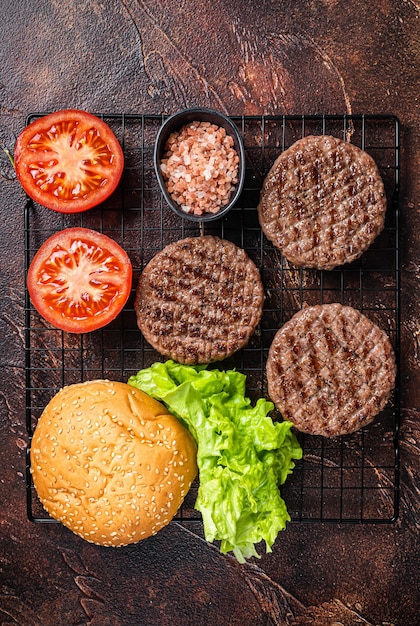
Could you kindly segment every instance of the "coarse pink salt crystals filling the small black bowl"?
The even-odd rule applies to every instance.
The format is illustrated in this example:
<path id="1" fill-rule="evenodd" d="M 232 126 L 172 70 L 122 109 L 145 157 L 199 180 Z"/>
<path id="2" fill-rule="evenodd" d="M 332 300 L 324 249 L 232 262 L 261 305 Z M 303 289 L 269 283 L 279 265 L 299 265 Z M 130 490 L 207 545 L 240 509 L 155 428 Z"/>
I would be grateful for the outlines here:
<path id="1" fill-rule="evenodd" d="M 171 133 L 161 172 L 172 199 L 186 213 L 218 213 L 238 182 L 233 138 L 210 122 L 192 122 Z"/>

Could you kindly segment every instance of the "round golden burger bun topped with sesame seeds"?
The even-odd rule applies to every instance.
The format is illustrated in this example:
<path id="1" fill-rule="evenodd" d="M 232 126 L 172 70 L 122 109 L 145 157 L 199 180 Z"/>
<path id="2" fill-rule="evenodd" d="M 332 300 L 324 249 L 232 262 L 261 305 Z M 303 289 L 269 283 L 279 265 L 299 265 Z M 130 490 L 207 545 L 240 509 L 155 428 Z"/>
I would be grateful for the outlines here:
<path id="1" fill-rule="evenodd" d="M 139 389 L 107 380 L 69 385 L 52 398 L 30 459 L 51 517 L 103 546 L 156 534 L 197 474 L 196 445 L 179 420 Z"/>

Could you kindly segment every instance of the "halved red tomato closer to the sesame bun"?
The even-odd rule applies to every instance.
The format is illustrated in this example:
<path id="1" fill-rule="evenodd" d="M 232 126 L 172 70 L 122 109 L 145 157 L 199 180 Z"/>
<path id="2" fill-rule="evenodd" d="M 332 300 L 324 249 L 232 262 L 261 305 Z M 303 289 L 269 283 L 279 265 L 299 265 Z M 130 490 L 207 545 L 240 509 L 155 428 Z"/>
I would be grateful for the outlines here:
<path id="1" fill-rule="evenodd" d="M 67 228 L 45 241 L 28 270 L 31 300 L 48 322 L 86 333 L 111 322 L 127 302 L 132 266 L 127 253 L 106 235 Z"/>

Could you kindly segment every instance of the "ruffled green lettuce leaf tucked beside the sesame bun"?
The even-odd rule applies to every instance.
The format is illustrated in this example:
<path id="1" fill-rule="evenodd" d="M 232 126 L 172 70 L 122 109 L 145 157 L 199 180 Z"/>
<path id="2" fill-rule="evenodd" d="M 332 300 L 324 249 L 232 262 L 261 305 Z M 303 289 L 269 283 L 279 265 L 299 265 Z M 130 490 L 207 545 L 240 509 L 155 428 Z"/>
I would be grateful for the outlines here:
<path id="1" fill-rule="evenodd" d="M 273 422 L 274 405 L 264 398 L 252 406 L 246 376 L 236 370 L 207 369 L 166 361 L 139 371 L 128 383 L 176 415 L 197 443 L 201 512 L 208 541 L 238 561 L 266 551 L 290 516 L 279 486 L 302 457 L 288 421 Z"/>

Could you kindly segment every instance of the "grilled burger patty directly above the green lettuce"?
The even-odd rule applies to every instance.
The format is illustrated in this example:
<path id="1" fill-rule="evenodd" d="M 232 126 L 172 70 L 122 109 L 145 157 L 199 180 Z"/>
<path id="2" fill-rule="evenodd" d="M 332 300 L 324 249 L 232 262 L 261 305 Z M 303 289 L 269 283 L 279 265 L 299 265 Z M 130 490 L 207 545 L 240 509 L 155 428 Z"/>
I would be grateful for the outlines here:
<path id="1" fill-rule="evenodd" d="M 134 306 L 146 340 L 192 365 L 220 361 L 245 346 L 263 302 L 258 269 L 245 251 L 208 235 L 156 254 L 140 276 Z"/>

